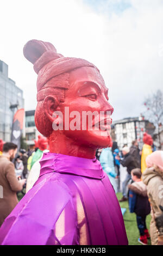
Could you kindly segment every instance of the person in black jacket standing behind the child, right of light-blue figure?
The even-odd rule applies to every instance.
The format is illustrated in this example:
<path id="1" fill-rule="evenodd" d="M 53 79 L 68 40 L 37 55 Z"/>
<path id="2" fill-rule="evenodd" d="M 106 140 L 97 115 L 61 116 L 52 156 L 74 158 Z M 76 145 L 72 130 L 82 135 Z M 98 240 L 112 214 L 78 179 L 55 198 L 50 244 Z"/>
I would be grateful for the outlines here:
<path id="1" fill-rule="evenodd" d="M 122 154 L 124 156 L 123 160 L 120 157 L 116 156 L 116 159 L 120 161 L 123 167 L 127 167 L 127 174 L 126 178 L 122 182 L 122 194 L 123 197 L 120 199 L 120 202 L 127 201 L 127 185 L 129 180 L 131 179 L 131 170 L 137 167 L 137 163 L 133 156 L 129 153 L 129 148 L 124 147 L 122 148 Z"/>

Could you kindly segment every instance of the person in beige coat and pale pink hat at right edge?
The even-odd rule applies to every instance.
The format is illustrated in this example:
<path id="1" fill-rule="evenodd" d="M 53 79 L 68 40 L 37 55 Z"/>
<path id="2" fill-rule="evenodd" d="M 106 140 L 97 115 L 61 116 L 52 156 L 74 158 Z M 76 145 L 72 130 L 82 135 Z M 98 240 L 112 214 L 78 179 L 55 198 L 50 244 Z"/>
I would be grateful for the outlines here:
<path id="1" fill-rule="evenodd" d="M 156 218 L 162 212 L 160 206 L 163 206 L 163 151 L 156 150 L 146 158 L 147 169 L 142 174 L 142 181 L 147 185 L 147 194 L 152 206 L 150 223 L 151 243 L 158 245 L 163 238 L 163 227 L 157 231 Z M 163 240 L 163 239 L 162 239 Z"/>

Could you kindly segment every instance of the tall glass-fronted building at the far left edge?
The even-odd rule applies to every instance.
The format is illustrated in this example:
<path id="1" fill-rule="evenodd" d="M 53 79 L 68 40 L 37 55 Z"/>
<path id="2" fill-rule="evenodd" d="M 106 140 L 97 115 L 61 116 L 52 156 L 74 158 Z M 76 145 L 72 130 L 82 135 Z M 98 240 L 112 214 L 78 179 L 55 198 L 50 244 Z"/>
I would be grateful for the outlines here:
<path id="1" fill-rule="evenodd" d="M 11 105 L 24 108 L 23 91 L 8 77 L 8 65 L 0 60 L 0 139 L 11 140 L 14 110 Z"/>

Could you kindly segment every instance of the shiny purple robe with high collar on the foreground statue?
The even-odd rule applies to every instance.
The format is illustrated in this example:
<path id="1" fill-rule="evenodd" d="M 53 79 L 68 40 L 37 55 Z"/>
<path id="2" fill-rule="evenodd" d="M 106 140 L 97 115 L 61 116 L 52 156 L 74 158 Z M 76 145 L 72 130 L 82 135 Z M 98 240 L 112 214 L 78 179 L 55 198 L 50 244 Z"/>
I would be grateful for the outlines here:
<path id="1" fill-rule="evenodd" d="M 44 153 L 39 179 L 0 229 L 2 245 L 127 245 L 121 208 L 95 159 Z"/>

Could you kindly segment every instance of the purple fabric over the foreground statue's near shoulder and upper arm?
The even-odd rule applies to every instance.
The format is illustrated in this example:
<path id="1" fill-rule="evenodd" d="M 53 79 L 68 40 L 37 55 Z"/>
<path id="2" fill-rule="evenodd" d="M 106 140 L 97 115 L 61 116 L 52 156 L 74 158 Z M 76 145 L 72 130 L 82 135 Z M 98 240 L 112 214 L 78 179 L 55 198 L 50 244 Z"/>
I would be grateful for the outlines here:
<path id="1" fill-rule="evenodd" d="M 2 245 L 73 245 L 78 243 L 76 212 L 68 187 L 51 179 L 53 173 L 35 185 L 5 219 L 0 229 Z M 67 220 L 64 237 L 62 215 Z"/>

